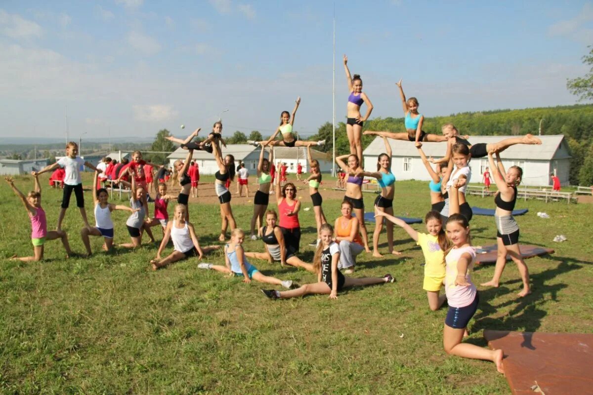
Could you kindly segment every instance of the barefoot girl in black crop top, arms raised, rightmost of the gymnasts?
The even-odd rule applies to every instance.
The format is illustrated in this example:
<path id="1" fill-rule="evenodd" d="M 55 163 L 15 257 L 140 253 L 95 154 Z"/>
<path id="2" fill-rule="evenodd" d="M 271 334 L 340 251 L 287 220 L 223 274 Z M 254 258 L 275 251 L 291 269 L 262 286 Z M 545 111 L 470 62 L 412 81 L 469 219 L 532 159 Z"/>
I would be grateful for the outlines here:
<path id="1" fill-rule="evenodd" d="M 521 183 L 523 176 L 523 169 L 519 166 L 511 166 L 506 171 L 505 166 L 502 165 L 500 155 L 496 154 L 496 163 L 492 158 L 492 153 L 488 154 L 490 167 L 492 168 L 492 177 L 496 181 L 498 192 L 494 197 L 496 204 L 496 211 L 494 219 L 496 221 L 496 242 L 498 244 L 498 256 L 496 257 L 496 268 L 494 269 L 494 276 L 492 280 L 484 282 L 483 286 L 498 287 L 500 276 L 506 265 L 506 254 L 511 256 L 511 259 L 517 264 L 521 281 L 523 282 L 523 290 L 519 293 L 523 297 L 531 293 L 529 287 L 529 270 L 523 261 L 521 251 L 519 249 L 519 225 L 513 217 L 513 210 L 515 202 L 517 201 L 517 185 Z"/>

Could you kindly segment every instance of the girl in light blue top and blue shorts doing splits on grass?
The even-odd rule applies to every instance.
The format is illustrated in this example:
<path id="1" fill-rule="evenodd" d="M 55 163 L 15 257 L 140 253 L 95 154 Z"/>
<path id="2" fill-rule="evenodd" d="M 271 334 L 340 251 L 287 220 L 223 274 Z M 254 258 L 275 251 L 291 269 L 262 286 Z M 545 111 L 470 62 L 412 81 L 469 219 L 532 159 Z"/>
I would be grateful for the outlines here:
<path id="1" fill-rule="evenodd" d="M 231 277 L 234 275 L 243 276 L 243 282 L 251 282 L 251 279 L 259 282 L 267 282 L 268 284 L 282 285 L 285 288 L 291 288 L 292 280 L 279 280 L 275 277 L 263 275 L 256 266 L 251 265 L 247 262 L 245 251 L 243 250 L 243 240 L 245 233 L 242 229 L 235 228 L 231 231 L 231 242 L 225 245 L 225 264 L 212 265 L 212 264 L 199 264 L 197 267 L 200 269 L 212 269 L 219 272 L 227 273 Z"/>

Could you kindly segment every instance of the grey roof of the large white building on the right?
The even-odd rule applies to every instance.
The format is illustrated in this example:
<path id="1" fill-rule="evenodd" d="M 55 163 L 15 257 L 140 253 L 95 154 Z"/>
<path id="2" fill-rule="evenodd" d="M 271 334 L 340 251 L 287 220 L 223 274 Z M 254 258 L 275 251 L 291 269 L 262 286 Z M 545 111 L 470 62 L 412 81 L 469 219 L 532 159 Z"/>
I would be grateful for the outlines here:
<path id="1" fill-rule="evenodd" d="M 500 140 L 509 139 L 518 136 L 470 136 L 469 142 L 471 144 L 477 143 L 498 143 Z M 568 147 L 563 152 L 556 155 L 556 152 L 560 149 L 560 144 L 565 144 L 563 134 L 553 134 L 548 136 L 537 136 L 541 139 L 541 145 L 525 145 L 516 144 L 508 147 L 502 153 L 501 158 L 505 159 L 522 159 L 522 160 L 551 160 L 551 159 L 565 159 L 570 158 Z M 387 139 L 393 156 L 408 156 L 408 157 L 419 157 L 420 154 L 416 149 L 414 143 L 404 142 L 401 140 Z M 434 158 L 442 158 L 447 151 L 445 143 L 422 143 L 422 150 L 426 156 L 433 156 Z M 383 143 L 382 137 L 377 137 L 375 140 L 365 148 L 362 155 L 378 156 L 380 153 L 385 152 L 385 144 Z M 556 156 L 554 156 L 556 155 Z"/>

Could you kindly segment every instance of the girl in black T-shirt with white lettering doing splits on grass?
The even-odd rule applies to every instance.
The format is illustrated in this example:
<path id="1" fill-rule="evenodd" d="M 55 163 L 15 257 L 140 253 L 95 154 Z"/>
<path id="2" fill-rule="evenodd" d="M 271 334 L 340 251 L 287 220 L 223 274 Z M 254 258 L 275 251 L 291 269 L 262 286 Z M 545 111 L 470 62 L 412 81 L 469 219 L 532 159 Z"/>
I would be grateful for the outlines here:
<path id="1" fill-rule="evenodd" d="M 330 299 L 337 299 L 337 292 L 344 287 L 353 285 L 372 285 L 382 284 L 384 282 L 393 282 L 391 274 L 385 274 L 383 277 L 350 278 L 345 277 L 337 269 L 340 261 L 340 248 L 333 241 L 333 227 L 325 223 L 321 225 L 321 243 L 315 252 L 313 267 L 317 272 L 317 282 L 315 284 L 305 284 L 296 290 L 276 291 L 262 290 L 265 296 L 270 299 L 288 299 L 308 294 L 329 294 Z"/>

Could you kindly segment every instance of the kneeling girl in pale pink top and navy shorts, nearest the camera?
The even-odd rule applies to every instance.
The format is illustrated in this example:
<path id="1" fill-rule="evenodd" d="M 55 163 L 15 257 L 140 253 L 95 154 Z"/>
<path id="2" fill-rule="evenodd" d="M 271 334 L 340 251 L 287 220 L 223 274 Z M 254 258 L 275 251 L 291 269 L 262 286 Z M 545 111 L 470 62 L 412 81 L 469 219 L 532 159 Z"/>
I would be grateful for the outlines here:
<path id="1" fill-rule="evenodd" d="M 470 224 L 459 213 L 457 188 L 465 184 L 464 179 L 455 180 L 449 199 L 451 208 L 447 219 L 447 237 L 452 248 L 445 255 L 445 293 L 449 310 L 443 329 L 443 346 L 447 354 L 471 359 L 486 359 L 496 364 L 496 370 L 504 373 L 502 349 L 490 350 L 473 344 L 462 343 L 467 323 L 476 313 L 480 297 L 476 285 L 471 282 L 476 251 L 470 243 Z"/>

